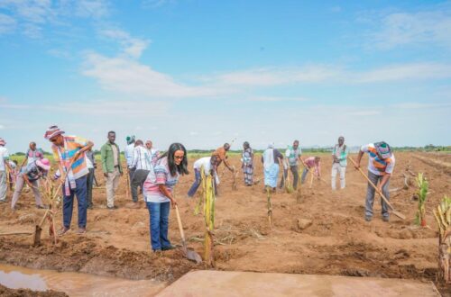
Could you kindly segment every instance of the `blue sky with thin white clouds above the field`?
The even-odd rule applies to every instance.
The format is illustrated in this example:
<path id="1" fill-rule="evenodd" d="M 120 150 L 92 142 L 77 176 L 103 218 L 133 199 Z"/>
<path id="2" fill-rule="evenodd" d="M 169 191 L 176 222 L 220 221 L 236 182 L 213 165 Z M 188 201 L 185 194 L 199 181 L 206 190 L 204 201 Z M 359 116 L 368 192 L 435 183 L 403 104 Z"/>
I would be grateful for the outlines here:
<path id="1" fill-rule="evenodd" d="M 0 137 L 450 145 L 450 31 L 449 1 L 1 0 Z"/>

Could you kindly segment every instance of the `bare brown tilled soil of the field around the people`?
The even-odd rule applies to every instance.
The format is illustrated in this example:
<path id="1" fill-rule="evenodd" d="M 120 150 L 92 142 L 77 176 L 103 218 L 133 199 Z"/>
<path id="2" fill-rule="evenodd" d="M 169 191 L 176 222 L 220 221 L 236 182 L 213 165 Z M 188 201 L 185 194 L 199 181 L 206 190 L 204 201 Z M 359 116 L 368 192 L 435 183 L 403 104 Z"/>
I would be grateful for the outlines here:
<path id="1" fill-rule="evenodd" d="M 432 207 L 445 194 L 451 194 L 451 175 L 447 168 L 451 155 L 396 154 L 391 189 L 399 190 L 391 193 L 391 203 L 407 216 L 407 220 L 391 215 L 388 223 L 381 219 L 378 199 L 374 203 L 373 221 L 364 220 L 366 183 L 351 165 L 347 168 L 345 190 L 331 191 L 330 157 L 328 154 L 321 156 L 325 182 L 314 181 L 311 189 L 308 184 L 303 185 L 299 202 L 296 193 L 276 193 L 272 197 L 272 228 L 267 219 L 262 183 L 246 187 L 240 173 L 238 189 L 232 191 L 232 175 L 225 172 L 216 199 L 215 268 L 410 278 L 433 281 L 442 294 L 451 296 L 451 286 L 438 284 L 436 279 L 438 238 L 432 214 Z M 260 156 L 256 159 L 259 161 Z M 189 159 L 190 167 L 193 161 Z M 239 157 L 231 157 L 231 163 L 239 167 Z M 220 175 L 222 171 L 221 167 Z M 256 162 L 255 172 L 255 179 L 262 178 L 260 162 Z M 413 223 L 417 201 L 413 199 L 415 185 L 410 173 L 419 172 L 425 173 L 429 181 L 428 228 L 419 228 Z M 404 175 L 410 176 L 408 189 L 403 189 Z M 97 169 L 97 180 L 105 184 L 102 176 Z M 181 177 L 177 198 L 189 247 L 202 255 L 204 220 L 201 214 L 194 215 L 198 197 L 188 199 L 186 196 L 193 179 L 194 175 Z M 1 236 L 0 262 L 168 282 L 191 269 L 207 268 L 184 259 L 179 250 L 152 254 L 149 213 L 143 202 L 140 202 L 140 209 L 132 208 L 131 200 L 125 196 L 124 185 L 125 178 L 122 178 L 116 195 L 119 208 L 114 211 L 106 209 L 105 189 L 94 190 L 95 208 L 87 212 L 86 235 L 69 233 L 54 246 L 45 234 L 41 247 L 31 246 L 31 236 Z M 11 199 L 11 193 L 8 199 Z M 32 231 L 35 222 L 41 219 L 43 211 L 34 208 L 32 193 L 23 193 L 18 206 L 19 210 L 13 212 L 8 203 L 0 204 L 0 232 Z M 60 227 L 60 212 L 57 221 Z M 76 208 L 72 228 L 77 229 Z M 173 211 L 170 213 L 170 238 L 173 244 L 180 242 Z"/>

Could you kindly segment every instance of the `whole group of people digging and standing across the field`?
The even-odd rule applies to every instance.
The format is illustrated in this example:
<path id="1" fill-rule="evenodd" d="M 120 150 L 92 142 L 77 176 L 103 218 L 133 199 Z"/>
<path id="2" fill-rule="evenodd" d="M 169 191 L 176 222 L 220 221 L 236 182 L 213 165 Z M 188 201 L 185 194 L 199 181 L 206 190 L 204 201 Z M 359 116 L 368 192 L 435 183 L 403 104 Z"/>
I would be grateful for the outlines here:
<path id="1" fill-rule="evenodd" d="M 90 140 L 65 135 L 58 126 L 51 126 L 46 130 L 44 138 L 48 139 L 52 146 L 53 157 L 58 166 L 58 171 L 53 179 L 59 180 L 62 184 L 63 193 L 63 226 L 59 230 L 59 235 L 63 235 L 70 229 L 74 198 L 78 200 L 78 234 L 86 232 L 87 208 L 92 208 L 92 184 L 94 171 L 97 166 L 92 148 L 94 143 Z M 129 175 L 132 201 L 138 202 L 138 187 L 141 187 L 143 200 L 146 203 L 150 217 L 150 237 L 153 251 L 162 251 L 174 248 L 168 238 L 170 204 L 175 207 L 177 201 L 173 196 L 174 186 L 179 182 L 180 175 L 188 175 L 187 150 L 180 143 L 172 143 L 168 150 L 161 154 L 158 149 L 152 148 L 152 141 L 135 139 L 134 136 L 126 138 L 127 146 L 124 149 L 124 157 L 127 165 L 127 175 Z M 6 171 L 14 172 L 8 151 L 5 148 L 5 140 L 0 139 L 0 202 L 5 202 L 6 196 Z M 212 175 L 215 178 L 215 188 L 219 184 L 217 168 L 222 163 L 232 173 L 235 174 L 235 166 L 231 166 L 227 160 L 227 152 L 230 144 L 217 148 L 210 157 L 199 158 L 193 164 L 195 181 L 189 188 L 188 196 L 192 197 L 198 190 L 201 182 L 201 170 L 205 175 Z M 340 188 L 345 188 L 345 168 L 346 158 L 349 148 L 345 146 L 345 139 L 340 137 L 338 143 L 332 151 L 332 188 L 336 189 L 336 175 L 340 175 Z M 357 157 L 357 167 L 364 155 L 369 155 L 369 178 L 374 184 L 379 183 L 382 192 L 389 198 L 389 180 L 395 158 L 390 146 L 385 142 L 377 142 L 362 146 Z M 119 178 L 124 174 L 121 166 L 121 154 L 118 145 L 115 143 L 115 132 L 109 131 L 107 141 L 100 150 L 102 171 L 106 179 L 106 204 L 107 208 L 114 210 L 115 191 L 119 184 Z M 289 169 L 293 177 L 293 187 L 296 189 L 299 181 L 299 163 L 304 166 L 300 182 L 304 183 L 305 177 L 310 170 L 313 175 L 321 178 L 320 157 L 308 157 L 303 159 L 299 147 L 299 140 L 295 140 L 289 146 L 285 155 L 274 148 L 273 144 L 268 145 L 262 154 L 262 165 L 264 173 L 264 185 L 276 190 L 280 165 L 283 166 L 283 173 L 279 187 L 282 188 L 286 182 Z M 27 162 L 27 166 L 23 166 Z M 15 176 L 15 190 L 12 201 L 14 209 L 23 184 L 29 184 L 35 195 L 36 205 L 43 208 L 39 193 L 39 179 L 47 176 L 51 168 L 51 162 L 45 158 L 36 144 L 32 142 L 27 151 L 26 159 L 21 165 L 21 169 Z M 249 142 L 243 144 L 242 166 L 244 174 L 244 184 L 252 186 L 254 170 L 254 154 Z M 60 176 L 65 176 L 61 178 Z M 368 185 L 365 201 L 365 220 L 372 220 L 373 217 L 374 189 Z M 389 211 L 385 202 L 382 201 L 382 219 L 389 220 Z"/>

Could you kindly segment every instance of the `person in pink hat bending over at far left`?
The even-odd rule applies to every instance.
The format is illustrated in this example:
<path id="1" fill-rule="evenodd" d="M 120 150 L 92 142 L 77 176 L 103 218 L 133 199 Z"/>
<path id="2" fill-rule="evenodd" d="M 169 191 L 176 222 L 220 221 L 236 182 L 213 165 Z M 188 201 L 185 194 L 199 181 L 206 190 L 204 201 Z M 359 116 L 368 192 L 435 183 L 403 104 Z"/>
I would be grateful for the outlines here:
<path id="1" fill-rule="evenodd" d="M 42 158 L 32 161 L 27 166 L 22 167 L 19 175 L 15 180 L 15 189 L 13 199 L 11 201 L 11 209 L 16 210 L 15 203 L 19 200 L 21 195 L 23 184 L 28 184 L 32 188 L 34 194 L 34 200 L 36 201 L 36 208 L 46 208 L 42 204 L 41 193 L 39 192 L 39 179 L 45 178 L 47 173 L 51 169 L 51 161 L 48 158 Z"/>

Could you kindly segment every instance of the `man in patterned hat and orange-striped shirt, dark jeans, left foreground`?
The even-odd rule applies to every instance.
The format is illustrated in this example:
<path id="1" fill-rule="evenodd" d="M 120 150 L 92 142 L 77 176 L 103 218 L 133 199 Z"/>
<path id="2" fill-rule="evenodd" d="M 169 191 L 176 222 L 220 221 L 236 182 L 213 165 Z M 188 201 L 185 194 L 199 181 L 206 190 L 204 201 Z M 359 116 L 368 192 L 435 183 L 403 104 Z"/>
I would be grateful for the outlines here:
<path id="1" fill-rule="evenodd" d="M 75 195 L 77 195 L 78 201 L 77 233 L 84 234 L 87 226 L 87 175 L 89 174 L 85 152 L 92 148 L 94 143 L 77 136 L 64 136 L 64 133 L 58 126 L 51 126 L 44 134 L 44 138 L 52 143 L 51 150 L 58 164 L 60 175 L 68 172 L 65 180 L 60 180 L 63 193 L 63 227 L 58 234 L 63 235 L 70 229 Z M 71 163 L 72 165 L 69 167 Z"/>

